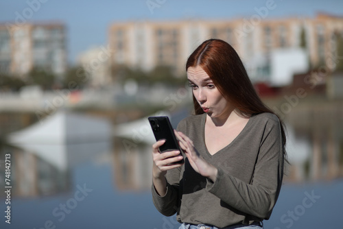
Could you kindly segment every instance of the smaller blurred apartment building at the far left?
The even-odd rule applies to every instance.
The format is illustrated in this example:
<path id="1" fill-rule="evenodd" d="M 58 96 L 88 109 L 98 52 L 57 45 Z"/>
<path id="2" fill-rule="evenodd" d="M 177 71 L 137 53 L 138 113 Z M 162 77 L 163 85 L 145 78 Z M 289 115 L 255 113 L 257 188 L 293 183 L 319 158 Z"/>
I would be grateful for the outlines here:
<path id="1" fill-rule="evenodd" d="M 25 77 L 34 67 L 62 75 L 67 69 L 66 32 L 62 23 L 0 24 L 2 73 Z"/>

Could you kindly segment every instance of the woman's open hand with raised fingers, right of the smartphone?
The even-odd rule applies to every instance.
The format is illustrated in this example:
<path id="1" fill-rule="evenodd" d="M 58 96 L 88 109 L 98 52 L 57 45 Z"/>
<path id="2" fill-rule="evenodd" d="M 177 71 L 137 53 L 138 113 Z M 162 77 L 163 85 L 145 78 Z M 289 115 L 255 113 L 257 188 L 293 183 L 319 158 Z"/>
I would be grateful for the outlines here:
<path id="1" fill-rule="evenodd" d="M 191 141 L 188 136 L 176 130 L 174 130 L 174 132 L 180 141 L 180 147 L 185 152 L 191 167 L 193 167 L 197 173 L 200 173 L 201 176 L 209 178 L 215 182 L 217 178 L 217 168 L 209 164 L 209 162 L 206 162 L 206 160 L 200 156 L 193 145 L 193 141 Z"/>

